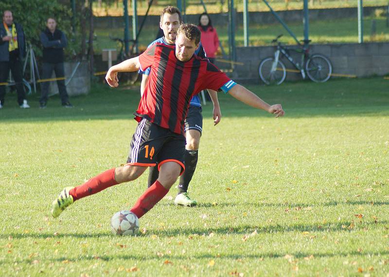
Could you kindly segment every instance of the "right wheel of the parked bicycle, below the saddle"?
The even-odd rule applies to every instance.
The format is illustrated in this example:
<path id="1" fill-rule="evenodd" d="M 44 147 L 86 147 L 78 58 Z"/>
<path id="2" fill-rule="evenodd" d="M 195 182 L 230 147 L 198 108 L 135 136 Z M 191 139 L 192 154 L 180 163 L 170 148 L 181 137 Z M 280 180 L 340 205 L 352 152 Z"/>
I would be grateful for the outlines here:
<path id="1" fill-rule="evenodd" d="M 325 56 L 314 54 L 307 60 L 305 71 L 312 81 L 324 83 L 331 77 L 332 65 Z"/>

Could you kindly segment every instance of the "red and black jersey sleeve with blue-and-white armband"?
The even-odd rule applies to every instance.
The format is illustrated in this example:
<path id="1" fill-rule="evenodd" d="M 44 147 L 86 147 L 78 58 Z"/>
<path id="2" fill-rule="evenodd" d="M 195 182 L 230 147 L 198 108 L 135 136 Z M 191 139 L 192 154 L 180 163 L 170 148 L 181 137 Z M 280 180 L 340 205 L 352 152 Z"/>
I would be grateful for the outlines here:
<path id="1" fill-rule="evenodd" d="M 223 91 L 226 93 L 234 85 L 236 85 L 236 83 L 225 73 L 221 72 L 214 64 L 211 62 L 207 63 L 207 72 L 203 81 L 203 89 L 211 89 L 217 92 Z"/>

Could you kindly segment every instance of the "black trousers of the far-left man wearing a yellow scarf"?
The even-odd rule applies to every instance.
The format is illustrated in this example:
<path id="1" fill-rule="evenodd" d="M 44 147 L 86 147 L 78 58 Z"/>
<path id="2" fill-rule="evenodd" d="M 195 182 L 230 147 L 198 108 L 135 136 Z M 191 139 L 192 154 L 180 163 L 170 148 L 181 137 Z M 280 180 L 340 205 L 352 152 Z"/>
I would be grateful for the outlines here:
<path id="1" fill-rule="evenodd" d="M 18 104 L 23 104 L 26 99 L 26 92 L 23 87 L 23 69 L 21 61 L 18 57 L 10 55 L 9 61 L 0 61 L 0 83 L 5 83 L 8 79 L 9 70 L 11 70 L 12 77 L 16 83 L 16 91 L 18 92 Z M 4 105 L 5 86 L 0 85 L 0 101 Z"/>

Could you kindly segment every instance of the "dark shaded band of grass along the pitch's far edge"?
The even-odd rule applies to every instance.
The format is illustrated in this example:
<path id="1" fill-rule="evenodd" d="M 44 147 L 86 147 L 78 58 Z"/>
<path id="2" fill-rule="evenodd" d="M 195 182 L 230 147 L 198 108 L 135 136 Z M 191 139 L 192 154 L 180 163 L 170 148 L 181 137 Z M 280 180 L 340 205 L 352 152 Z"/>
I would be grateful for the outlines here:
<path id="1" fill-rule="evenodd" d="M 382 78 L 332 80 L 326 83 L 299 82 L 281 86 L 248 86 L 269 103 L 281 103 L 288 118 L 389 116 L 388 81 Z M 14 95 L 13 95 L 14 96 Z M 13 97 L 9 96 L 9 97 Z M 14 103 L 1 109 L 2 122 L 45 122 L 132 119 L 139 104 L 139 88 L 112 90 L 96 86 L 86 96 L 72 99 L 73 109 L 60 107 L 58 97 L 50 99 L 48 108 L 38 109 L 37 99 L 29 99 L 31 109 L 21 110 Z M 9 101 L 12 102 L 12 101 Z M 270 117 L 264 111 L 248 108 L 220 94 L 224 117 Z M 14 104 L 14 105 L 12 105 Z M 204 116 L 212 115 L 212 105 L 203 106 Z"/>

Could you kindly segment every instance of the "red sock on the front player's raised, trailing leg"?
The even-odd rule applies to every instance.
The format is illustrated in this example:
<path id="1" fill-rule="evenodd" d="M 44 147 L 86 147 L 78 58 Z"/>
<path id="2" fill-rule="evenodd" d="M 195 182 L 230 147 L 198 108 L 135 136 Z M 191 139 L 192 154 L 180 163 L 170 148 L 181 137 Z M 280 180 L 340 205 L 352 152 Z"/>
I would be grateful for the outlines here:
<path id="1" fill-rule="evenodd" d="M 76 186 L 69 191 L 73 201 L 98 193 L 107 187 L 118 185 L 115 181 L 115 168 L 109 169 L 96 177 L 89 179 L 83 185 Z"/>

